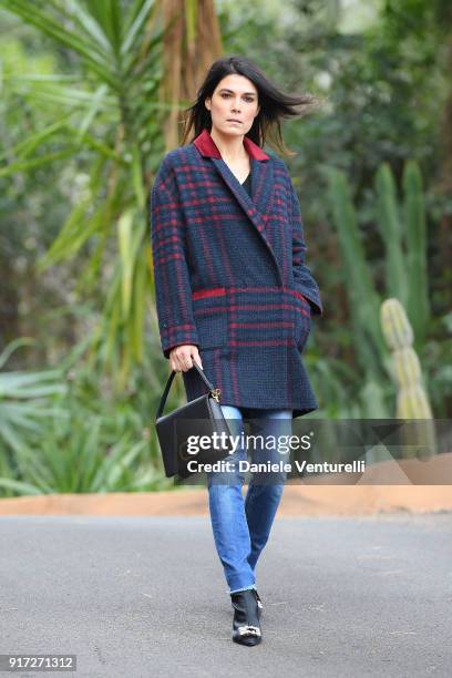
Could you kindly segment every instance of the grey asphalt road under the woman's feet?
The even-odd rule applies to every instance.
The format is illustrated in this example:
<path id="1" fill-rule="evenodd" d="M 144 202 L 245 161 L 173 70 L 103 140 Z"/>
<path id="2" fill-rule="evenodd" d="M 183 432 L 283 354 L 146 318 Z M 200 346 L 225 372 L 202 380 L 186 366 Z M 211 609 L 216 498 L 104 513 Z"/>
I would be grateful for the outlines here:
<path id="1" fill-rule="evenodd" d="M 78 660 L 16 675 L 452 676 L 452 513 L 278 517 L 250 648 L 208 518 L 12 516 L 0 540 L 0 654 Z"/>

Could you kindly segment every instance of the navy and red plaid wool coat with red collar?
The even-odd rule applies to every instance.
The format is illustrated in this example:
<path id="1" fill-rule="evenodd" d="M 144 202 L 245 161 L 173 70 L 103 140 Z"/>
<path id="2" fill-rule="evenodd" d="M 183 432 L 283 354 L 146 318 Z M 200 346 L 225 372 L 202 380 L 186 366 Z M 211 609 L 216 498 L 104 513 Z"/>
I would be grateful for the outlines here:
<path id="1" fill-rule="evenodd" d="M 318 285 L 305 264 L 300 206 L 288 170 L 248 137 L 251 196 L 209 132 L 167 153 L 151 192 L 154 285 L 162 350 L 194 343 L 220 403 L 318 408 L 301 353 Z M 187 400 L 206 392 L 183 372 Z"/>

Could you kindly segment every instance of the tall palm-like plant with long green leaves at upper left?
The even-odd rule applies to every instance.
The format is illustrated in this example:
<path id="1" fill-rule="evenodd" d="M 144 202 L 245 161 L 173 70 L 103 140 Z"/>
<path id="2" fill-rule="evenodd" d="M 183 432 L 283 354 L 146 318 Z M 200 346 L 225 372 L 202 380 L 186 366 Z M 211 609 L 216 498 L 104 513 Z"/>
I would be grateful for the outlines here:
<path id="1" fill-rule="evenodd" d="M 71 54 L 72 74 L 79 72 L 79 82 L 71 85 L 63 73 L 38 81 L 22 75 L 19 83 L 13 75 L 7 78 L 11 95 L 28 82 L 27 97 L 34 105 L 52 103 L 56 120 L 9 148 L 0 177 L 63 158 L 89 158 L 84 194 L 74 195 L 72 209 L 38 271 L 78 257 L 79 291 L 86 292 L 97 282 L 109 289 L 92 335 L 92 361 L 114 373 L 121 390 L 143 359 L 144 310 L 153 296 L 146 193 L 161 151 L 161 140 L 153 151 L 160 133 L 155 113 L 162 41 L 153 21 L 156 6 L 154 0 L 31 6 L 0 0 L 1 6 Z M 103 267 L 110 270 L 107 280 L 102 279 Z"/>

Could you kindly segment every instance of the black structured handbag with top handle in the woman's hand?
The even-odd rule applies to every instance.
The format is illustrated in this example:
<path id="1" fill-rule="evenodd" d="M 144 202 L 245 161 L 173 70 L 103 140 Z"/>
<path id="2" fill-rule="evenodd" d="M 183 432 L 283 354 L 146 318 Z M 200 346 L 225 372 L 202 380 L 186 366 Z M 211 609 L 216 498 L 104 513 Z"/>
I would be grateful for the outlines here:
<path id="1" fill-rule="evenodd" d="M 193 361 L 193 368 L 191 369 L 197 370 L 208 388 L 208 393 L 199 396 L 199 398 L 191 400 L 177 410 L 162 417 L 171 384 L 177 373 L 172 370 L 155 417 L 155 427 L 167 477 L 173 475 L 178 475 L 181 479 L 188 477 L 197 471 L 197 464 L 192 464 L 191 470 L 187 468 L 189 461 L 214 463 L 225 459 L 233 449 L 229 427 L 219 404 L 220 389 L 214 388 L 195 361 Z M 222 436 L 216 439 L 218 441 L 217 445 L 214 443 L 215 439 L 212 438 L 214 433 Z M 202 445 L 194 445 L 194 439 L 198 440 L 202 435 L 208 435 L 213 441 L 213 444 L 208 445 L 207 449 L 203 449 Z M 207 440 L 206 442 L 208 443 Z M 194 452 L 195 448 L 198 448 L 198 451 Z"/>

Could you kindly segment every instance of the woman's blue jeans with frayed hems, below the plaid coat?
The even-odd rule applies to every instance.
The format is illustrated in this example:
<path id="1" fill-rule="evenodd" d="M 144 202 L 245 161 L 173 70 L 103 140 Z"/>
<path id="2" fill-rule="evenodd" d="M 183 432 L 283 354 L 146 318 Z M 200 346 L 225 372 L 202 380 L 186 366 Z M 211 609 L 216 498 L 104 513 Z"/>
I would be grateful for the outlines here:
<path id="1" fill-rule="evenodd" d="M 233 436 L 244 433 L 243 415 L 249 420 L 249 436 L 263 436 L 260 444 L 238 444 L 234 454 L 224 461 L 230 471 L 209 472 L 207 476 L 208 503 L 215 546 L 223 564 L 228 593 L 256 588 L 255 567 L 268 541 L 270 528 L 282 495 L 287 473 L 282 471 L 256 471 L 249 481 L 244 500 L 242 489 L 245 471 L 238 462 L 250 463 L 289 461 L 290 452 L 278 450 L 278 435 L 291 434 L 291 410 L 263 410 L 222 405 Z M 248 417 L 249 415 L 249 417 Z M 270 444 L 274 436 L 276 444 Z M 256 440 L 258 440 L 256 439 Z M 248 454 L 247 454 L 248 446 Z M 266 466 L 267 469 L 267 466 Z"/>

